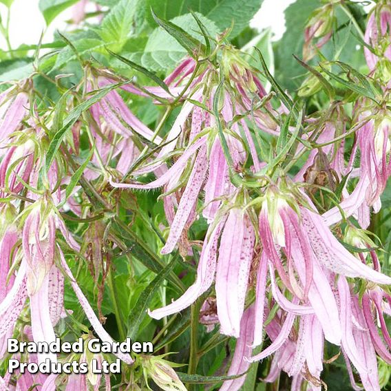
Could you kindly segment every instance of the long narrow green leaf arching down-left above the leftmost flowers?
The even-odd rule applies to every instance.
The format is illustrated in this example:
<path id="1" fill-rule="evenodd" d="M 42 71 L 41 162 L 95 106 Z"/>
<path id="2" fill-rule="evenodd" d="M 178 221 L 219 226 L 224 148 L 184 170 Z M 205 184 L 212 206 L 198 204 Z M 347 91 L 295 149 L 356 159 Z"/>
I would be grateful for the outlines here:
<path id="1" fill-rule="evenodd" d="M 74 107 L 70 114 L 67 115 L 67 118 L 65 118 L 65 125 L 59 131 L 56 132 L 54 137 L 52 138 L 52 141 L 50 142 L 49 148 L 47 149 L 46 154 L 46 164 L 45 168 L 48 170 L 50 168 L 50 165 L 52 165 L 52 162 L 54 160 L 54 155 L 56 154 L 56 151 L 59 149 L 61 142 L 63 141 L 63 137 L 65 136 L 65 133 L 76 123 L 76 120 L 81 116 L 85 110 L 89 109 L 92 105 L 94 105 L 96 102 L 100 101 L 104 96 L 106 96 L 110 91 L 113 89 L 116 89 L 120 85 L 123 85 L 127 82 L 118 83 L 109 85 L 107 87 L 104 87 L 99 90 L 95 95 L 93 95 L 91 98 L 87 99 L 87 101 L 84 101 L 80 105 Z"/>

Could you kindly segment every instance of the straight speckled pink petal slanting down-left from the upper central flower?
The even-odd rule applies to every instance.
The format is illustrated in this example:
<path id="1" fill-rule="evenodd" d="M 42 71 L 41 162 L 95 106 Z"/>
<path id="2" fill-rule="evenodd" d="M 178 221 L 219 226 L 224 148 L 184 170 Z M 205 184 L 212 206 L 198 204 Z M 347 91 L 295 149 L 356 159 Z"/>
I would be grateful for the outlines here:
<path id="1" fill-rule="evenodd" d="M 169 237 L 167 237 L 167 242 L 160 251 L 161 254 L 171 253 L 176 246 L 191 210 L 193 209 L 195 202 L 197 202 L 198 194 L 200 193 L 200 189 L 207 175 L 207 169 L 207 149 L 205 146 L 202 146 L 198 152 L 197 158 L 195 158 L 193 169 L 191 170 L 189 180 L 182 197 L 180 198 L 178 210 L 176 211 L 175 218 L 171 225 Z"/>

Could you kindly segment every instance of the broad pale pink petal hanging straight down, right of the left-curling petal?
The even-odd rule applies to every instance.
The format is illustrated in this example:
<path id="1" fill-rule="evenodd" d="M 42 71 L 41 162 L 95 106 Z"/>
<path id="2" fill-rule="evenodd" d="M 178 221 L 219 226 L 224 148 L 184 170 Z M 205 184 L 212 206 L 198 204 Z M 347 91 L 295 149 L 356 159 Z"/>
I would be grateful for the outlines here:
<path id="1" fill-rule="evenodd" d="M 240 335 L 254 242 L 249 216 L 231 209 L 220 240 L 215 282 L 220 330 L 225 335 Z"/>

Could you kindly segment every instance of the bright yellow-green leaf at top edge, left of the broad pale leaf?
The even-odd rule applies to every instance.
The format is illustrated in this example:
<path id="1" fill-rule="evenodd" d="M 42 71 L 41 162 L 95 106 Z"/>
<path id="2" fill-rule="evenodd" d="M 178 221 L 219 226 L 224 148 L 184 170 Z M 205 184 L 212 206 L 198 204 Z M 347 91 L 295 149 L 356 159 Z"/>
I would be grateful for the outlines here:
<path id="1" fill-rule="evenodd" d="M 113 50 L 120 50 L 134 30 L 133 22 L 138 0 L 120 0 L 103 19 L 99 36 L 107 43 L 115 43 Z"/>

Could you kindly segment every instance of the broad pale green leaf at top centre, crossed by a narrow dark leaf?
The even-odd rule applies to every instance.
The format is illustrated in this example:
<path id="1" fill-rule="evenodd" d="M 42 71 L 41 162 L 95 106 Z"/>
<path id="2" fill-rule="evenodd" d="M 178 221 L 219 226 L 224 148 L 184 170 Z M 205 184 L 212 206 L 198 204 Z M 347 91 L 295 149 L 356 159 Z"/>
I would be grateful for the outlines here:
<path id="1" fill-rule="evenodd" d="M 210 21 L 201 14 L 197 14 L 211 36 L 221 32 L 213 21 Z M 197 22 L 191 14 L 181 15 L 171 20 L 171 23 L 178 25 L 187 34 L 205 43 L 204 36 L 200 32 Z M 187 50 L 176 41 L 168 32 L 162 28 L 156 28 L 149 36 L 144 53 L 141 56 L 141 65 L 152 71 L 167 71 L 187 55 Z"/>

